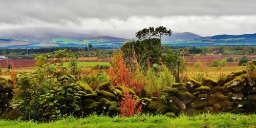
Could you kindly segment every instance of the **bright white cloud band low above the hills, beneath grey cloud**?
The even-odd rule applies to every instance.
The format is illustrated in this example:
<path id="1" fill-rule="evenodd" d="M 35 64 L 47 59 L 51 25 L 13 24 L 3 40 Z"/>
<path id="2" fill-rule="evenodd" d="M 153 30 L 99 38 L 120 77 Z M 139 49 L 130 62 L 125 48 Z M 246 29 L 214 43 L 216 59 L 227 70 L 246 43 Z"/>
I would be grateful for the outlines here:
<path id="1" fill-rule="evenodd" d="M 132 38 L 140 29 L 165 26 L 173 32 L 193 32 L 202 36 L 217 34 L 256 33 L 256 15 L 224 16 L 131 16 L 126 19 L 79 18 L 76 22 L 61 20 L 58 23 L 42 22 L 37 19 L 24 19 L 19 24 L 0 23 L 0 30 L 16 28 L 59 28 L 88 34 L 111 35 Z"/>

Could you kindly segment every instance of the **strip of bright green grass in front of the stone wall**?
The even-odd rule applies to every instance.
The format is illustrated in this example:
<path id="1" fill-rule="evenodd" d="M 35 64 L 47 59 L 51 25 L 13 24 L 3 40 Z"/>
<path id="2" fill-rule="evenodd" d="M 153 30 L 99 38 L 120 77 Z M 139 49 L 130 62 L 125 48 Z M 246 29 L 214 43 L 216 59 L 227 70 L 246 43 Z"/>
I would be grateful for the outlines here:
<path id="1" fill-rule="evenodd" d="M 202 114 L 169 118 L 139 115 L 130 118 L 91 115 L 86 118 L 69 117 L 49 123 L 0 120 L 0 127 L 255 127 L 256 115 Z"/>

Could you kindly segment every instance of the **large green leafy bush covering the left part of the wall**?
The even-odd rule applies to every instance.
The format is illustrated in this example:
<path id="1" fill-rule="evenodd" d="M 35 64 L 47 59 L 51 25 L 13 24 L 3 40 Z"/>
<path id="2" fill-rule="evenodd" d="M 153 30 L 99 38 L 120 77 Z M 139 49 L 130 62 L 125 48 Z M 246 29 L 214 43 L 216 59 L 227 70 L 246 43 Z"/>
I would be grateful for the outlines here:
<path id="1" fill-rule="evenodd" d="M 62 57 L 70 57 L 66 50 L 36 57 L 37 69 L 32 74 L 20 73 L 17 77 L 17 91 L 10 104 L 20 119 L 48 121 L 79 116 L 81 94 L 79 69 L 75 61 L 69 68 L 63 67 Z M 56 57 L 53 62 L 50 57 Z"/>

